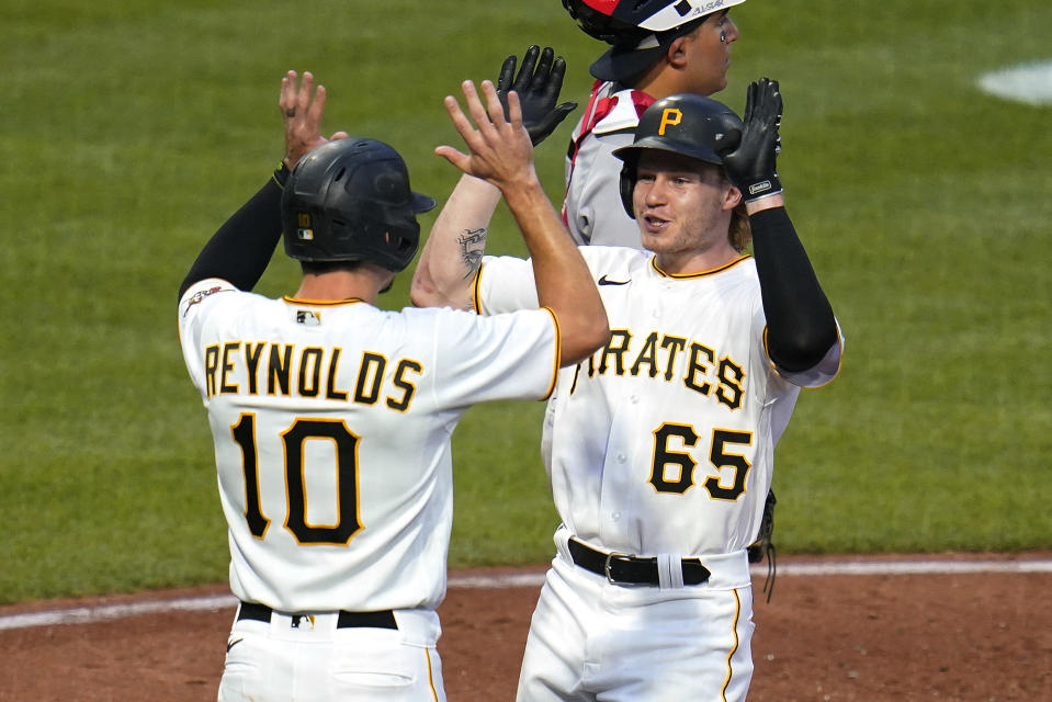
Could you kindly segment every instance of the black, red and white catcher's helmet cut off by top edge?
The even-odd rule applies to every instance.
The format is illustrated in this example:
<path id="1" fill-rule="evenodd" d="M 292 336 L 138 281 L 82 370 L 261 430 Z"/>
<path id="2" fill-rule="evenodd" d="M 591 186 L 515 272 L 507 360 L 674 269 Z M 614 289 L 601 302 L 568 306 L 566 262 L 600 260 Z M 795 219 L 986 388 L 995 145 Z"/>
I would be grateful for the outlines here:
<path id="1" fill-rule="evenodd" d="M 745 0 L 563 0 L 588 35 L 612 45 L 637 44 Z"/>

